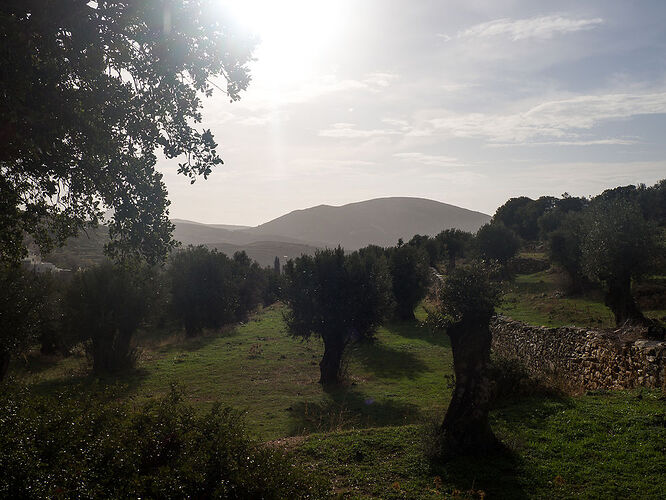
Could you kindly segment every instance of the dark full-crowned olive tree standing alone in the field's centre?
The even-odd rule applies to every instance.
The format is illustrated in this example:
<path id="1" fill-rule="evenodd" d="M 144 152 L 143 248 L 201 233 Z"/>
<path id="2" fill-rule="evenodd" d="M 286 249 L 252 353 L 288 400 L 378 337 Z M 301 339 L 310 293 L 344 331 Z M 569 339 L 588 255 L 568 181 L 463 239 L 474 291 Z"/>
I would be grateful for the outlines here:
<path id="1" fill-rule="evenodd" d="M 337 384 L 346 346 L 371 338 L 390 311 L 391 277 L 386 258 L 371 251 L 345 256 L 338 247 L 290 260 L 284 270 L 289 332 L 295 337 L 322 338 L 319 382 Z"/>

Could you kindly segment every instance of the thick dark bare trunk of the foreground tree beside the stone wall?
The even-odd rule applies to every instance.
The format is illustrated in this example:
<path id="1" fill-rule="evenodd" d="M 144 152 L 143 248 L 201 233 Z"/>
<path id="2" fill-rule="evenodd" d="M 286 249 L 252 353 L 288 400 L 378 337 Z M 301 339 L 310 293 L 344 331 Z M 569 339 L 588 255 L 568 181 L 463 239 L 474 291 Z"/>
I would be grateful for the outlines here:
<path id="1" fill-rule="evenodd" d="M 490 411 L 490 318 L 473 318 L 448 329 L 456 386 L 442 423 L 443 451 L 474 455 L 498 446 L 488 422 Z"/>

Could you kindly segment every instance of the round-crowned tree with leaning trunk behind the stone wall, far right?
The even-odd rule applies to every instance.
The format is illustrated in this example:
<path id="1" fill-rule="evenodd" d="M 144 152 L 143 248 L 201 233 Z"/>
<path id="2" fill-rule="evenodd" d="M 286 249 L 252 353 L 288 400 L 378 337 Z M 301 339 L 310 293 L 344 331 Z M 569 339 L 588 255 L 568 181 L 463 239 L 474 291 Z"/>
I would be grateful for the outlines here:
<path id="1" fill-rule="evenodd" d="M 607 197 L 594 200 L 585 211 L 582 234 L 583 270 L 605 285 L 605 302 L 616 323 L 645 322 L 631 282 L 652 271 L 664 253 L 656 224 L 645 220 L 636 202 Z"/>

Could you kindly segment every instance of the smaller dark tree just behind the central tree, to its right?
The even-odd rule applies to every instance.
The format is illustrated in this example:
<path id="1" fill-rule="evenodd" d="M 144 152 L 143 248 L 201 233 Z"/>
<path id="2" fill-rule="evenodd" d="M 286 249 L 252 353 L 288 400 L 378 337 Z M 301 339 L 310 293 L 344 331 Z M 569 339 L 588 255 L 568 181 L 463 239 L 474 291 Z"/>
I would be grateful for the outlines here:
<path id="1" fill-rule="evenodd" d="M 413 320 L 414 308 L 425 297 L 430 283 L 428 255 L 412 245 L 387 250 L 395 315 L 400 320 Z"/>

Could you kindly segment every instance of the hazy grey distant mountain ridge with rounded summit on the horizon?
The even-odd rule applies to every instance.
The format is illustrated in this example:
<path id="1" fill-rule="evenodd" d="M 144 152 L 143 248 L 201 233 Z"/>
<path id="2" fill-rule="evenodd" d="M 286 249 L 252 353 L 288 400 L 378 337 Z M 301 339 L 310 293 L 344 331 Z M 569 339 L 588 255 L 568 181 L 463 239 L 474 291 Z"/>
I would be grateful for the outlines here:
<path id="1" fill-rule="evenodd" d="M 318 248 L 342 245 L 356 250 L 369 244 L 395 245 L 415 234 L 435 235 L 448 228 L 476 232 L 490 216 L 464 208 L 422 198 L 377 198 L 340 207 L 319 205 L 295 210 L 257 227 L 228 224 L 202 224 L 173 219 L 174 238 L 183 246 L 205 245 L 227 255 L 245 250 L 262 266 L 273 265 L 275 257 L 287 258 L 313 254 Z M 76 269 L 104 259 L 108 241 L 106 227 L 88 230 L 71 238 L 45 261 L 59 267 Z"/>

